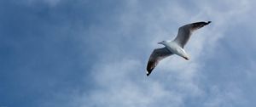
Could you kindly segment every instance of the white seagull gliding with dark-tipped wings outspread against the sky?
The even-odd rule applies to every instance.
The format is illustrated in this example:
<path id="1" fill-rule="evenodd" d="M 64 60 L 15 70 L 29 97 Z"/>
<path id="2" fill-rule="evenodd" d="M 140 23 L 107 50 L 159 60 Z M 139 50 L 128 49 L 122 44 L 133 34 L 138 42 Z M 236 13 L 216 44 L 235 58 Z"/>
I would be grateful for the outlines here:
<path id="1" fill-rule="evenodd" d="M 178 28 L 177 37 L 173 41 L 162 41 L 158 42 L 158 44 L 162 44 L 164 48 L 155 48 L 151 53 L 148 59 L 147 65 L 147 76 L 150 75 L 152 70 L 154 70 L 155 66 L 158 65 L 161 59 L 165 59 L 172 54 L 177 54 L 183 59 L 189 60 L 189 55 L 183 49 L 186 43 L 189 41 L 189 37 L 192 35 L 193 31 L 196 31 L 203 27 L 204 25 L 210 24 L 211 21 L 201 21 L 195 22 L 187 25 L 183 25 Z"/>

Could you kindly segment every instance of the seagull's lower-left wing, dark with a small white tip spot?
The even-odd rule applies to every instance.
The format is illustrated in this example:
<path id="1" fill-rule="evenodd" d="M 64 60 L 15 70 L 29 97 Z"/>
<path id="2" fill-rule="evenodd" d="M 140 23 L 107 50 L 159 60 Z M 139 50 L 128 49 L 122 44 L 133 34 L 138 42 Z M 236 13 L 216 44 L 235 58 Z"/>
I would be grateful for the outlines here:
<path id="1" fill-rule="evenodd" d="M 154 49 L 148 59 L 147 76 L 149 76 L 152 70 L 154 70 L 154 67 L 160 62 L 161 59 L 165 59 L 170 55 L 172 55 L 172 53 L 167 48 Z"/>

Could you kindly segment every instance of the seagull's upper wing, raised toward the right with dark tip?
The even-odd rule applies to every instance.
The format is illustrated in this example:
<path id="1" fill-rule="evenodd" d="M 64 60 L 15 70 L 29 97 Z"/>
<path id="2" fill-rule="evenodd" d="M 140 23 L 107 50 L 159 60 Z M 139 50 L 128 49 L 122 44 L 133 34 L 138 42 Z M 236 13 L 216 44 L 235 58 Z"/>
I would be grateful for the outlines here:
<path id="1" fill-rule="evenodd" d="M 211 21 L 208 22 L 195 22 L 188 25 L 183 25 L 178 28 L 177 37 L 174 39 L 175 42 L 177 42 L 182 48 L 185 46 L 185 44 L 189 41 L 189 37 L 192 35 L 192 32 L 195 30 L 200 29 L 204 25 L 210 24 Z"/>

